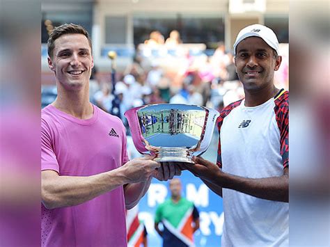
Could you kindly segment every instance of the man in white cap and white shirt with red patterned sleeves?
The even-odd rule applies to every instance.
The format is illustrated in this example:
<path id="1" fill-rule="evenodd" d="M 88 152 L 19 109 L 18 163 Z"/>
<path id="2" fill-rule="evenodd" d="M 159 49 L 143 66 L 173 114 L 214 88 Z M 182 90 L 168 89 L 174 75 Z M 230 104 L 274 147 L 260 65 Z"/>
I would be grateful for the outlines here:
<path id="1" fill-rule="evenodd" d="M 274 86 L 278 40 L 254 24 L 238 33 L 234 51 L 245 98 L 220 113 L 217 165 L 194 157 L 182 169 L 223 197 L 221 246 L 288 246 L 289 100 Z"/>

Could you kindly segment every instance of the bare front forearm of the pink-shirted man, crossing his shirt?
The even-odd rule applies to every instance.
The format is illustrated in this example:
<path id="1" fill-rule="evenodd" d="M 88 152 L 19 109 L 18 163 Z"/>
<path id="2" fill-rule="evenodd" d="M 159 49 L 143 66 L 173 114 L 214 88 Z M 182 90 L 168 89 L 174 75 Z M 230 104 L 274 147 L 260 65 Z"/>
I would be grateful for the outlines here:
<path id="1" fill-rule="evenodd" d="M 126 183 L 119 168 L 88 177 L 49 176 L 42 172 L 42 203 L 48 209 L 79 205 Z"/>

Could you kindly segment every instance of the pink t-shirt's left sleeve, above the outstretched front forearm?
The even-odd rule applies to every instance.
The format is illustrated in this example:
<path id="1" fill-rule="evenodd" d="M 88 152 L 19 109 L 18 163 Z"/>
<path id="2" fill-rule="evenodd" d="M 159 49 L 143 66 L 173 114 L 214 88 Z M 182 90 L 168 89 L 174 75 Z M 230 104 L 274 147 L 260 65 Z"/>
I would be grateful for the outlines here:
<path id="1" fill-rule="evenodd" d="M 41 170 L 55 170 L 59 173 L 50 129 L 45 120 L 41 120 Z"/>

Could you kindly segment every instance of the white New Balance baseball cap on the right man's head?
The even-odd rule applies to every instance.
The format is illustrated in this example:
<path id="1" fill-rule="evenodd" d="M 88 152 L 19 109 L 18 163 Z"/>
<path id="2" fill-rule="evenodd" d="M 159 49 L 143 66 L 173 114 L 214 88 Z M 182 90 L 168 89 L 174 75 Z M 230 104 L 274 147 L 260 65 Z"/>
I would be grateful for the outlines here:
<path id="1" fill-rule="evenodd" d="M 236 47 L 238 43 L 244 40 L 244 38 L 248 38 L 251 36 L 262 38 L 262 40 L 264 40 L 267 43 L 267 45 L 269 45 L 269 47 L 272 47 L 276 51 L 276 53 L 279 54 L 278 40 L 274 31 L 272 31 L 272 29 L 269 29 L 269 27 L 267 26 L 263 26 L 260 24 L 253 24 L 250 26 L 246 26 L 244 27 L 244 29 L 239 31 L 234 44 L 235 55 L 236 55 Z"/>

